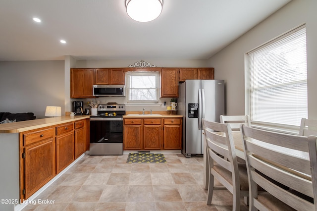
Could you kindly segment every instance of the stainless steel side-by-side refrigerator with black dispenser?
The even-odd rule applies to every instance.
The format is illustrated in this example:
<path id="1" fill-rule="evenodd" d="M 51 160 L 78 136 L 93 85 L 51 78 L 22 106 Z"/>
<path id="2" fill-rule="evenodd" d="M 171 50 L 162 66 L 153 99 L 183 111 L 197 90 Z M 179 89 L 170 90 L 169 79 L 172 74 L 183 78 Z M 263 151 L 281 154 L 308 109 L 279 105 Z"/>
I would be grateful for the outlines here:
<path id="1" fill-rule="evenodd" d="M 224 80 L 186 80 L 179 89 L 178 113 L 183 115 L 182 154 L 203 156 L 202 119 L 220 122 L 224 115 Z"/>

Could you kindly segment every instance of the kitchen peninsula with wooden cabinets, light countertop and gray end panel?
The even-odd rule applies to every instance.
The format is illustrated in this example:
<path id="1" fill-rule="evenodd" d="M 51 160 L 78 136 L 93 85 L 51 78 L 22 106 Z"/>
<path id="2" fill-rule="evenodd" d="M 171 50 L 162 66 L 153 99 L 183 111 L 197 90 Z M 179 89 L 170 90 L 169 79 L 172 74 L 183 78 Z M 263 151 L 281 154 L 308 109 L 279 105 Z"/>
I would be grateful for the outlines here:
<path id="1" fill-rule="evenodd" d="M 1 211 L 13 211 L 86 152 L 88 121 L 82 115 L 0 124 L 0 199 L 14 200 Z"/>

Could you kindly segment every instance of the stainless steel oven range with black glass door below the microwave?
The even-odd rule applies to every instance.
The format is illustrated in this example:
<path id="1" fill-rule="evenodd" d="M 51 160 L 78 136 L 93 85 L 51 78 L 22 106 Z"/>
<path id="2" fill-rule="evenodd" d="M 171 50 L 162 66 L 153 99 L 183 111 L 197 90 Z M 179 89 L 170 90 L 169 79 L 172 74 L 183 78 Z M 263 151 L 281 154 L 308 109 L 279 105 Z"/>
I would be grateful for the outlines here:
<path id="1" fill-rule="evenodd" d="M 124 105 L 99 105 L 90 116 L 89 155 L 123 155 Z"/>

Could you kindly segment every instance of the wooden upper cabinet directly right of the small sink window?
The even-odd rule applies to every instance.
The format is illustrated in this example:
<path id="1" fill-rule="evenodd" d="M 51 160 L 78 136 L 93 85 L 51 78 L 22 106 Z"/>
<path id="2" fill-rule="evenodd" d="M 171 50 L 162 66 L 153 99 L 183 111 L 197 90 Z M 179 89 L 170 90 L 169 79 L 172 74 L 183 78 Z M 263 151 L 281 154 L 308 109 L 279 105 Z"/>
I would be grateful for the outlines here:
<path id="1" fill-rule="evenodd" d="M 178 68 L 162 68 L 161 98 L 178 98 Z"/>

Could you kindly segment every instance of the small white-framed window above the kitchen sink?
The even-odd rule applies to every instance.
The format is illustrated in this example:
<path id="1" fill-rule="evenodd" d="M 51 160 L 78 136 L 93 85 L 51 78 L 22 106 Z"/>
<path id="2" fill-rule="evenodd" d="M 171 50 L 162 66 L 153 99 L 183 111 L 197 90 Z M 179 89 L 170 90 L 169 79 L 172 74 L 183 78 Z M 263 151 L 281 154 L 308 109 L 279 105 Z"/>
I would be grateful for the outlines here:
<path id="1" fill-rule="evenodd" d="M 159 72 L 127 72 L 127 102 L 159 102 Z"/>

